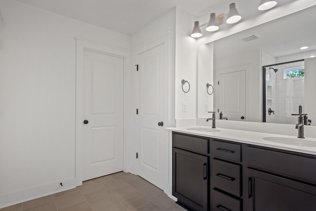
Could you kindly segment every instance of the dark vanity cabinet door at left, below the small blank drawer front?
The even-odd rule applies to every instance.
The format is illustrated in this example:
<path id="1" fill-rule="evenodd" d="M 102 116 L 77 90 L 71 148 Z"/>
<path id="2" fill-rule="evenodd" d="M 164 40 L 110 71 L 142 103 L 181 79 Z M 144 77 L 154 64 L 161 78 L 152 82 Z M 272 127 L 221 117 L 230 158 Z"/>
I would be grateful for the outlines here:
<path id="1" fill-rule="evenodd" d="M 208 157 L 173 148 L 172 195 L 178 203 L 195 211 L 207 211 Z"/>

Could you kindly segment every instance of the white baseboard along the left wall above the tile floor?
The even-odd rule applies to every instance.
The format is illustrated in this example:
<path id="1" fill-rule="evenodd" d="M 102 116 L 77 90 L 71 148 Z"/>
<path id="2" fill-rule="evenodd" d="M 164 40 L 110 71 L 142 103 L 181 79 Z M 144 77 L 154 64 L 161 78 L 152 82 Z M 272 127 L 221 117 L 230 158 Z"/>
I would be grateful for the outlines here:
<path id="1" fill-rule="evenodd" d="M 63 186 L 60 185 L 63 183 Z M 76 178 L 65 179 L 63 181 L 56 181 L 49 184 L 32 187 L 25 190 L 15 191 L 0 195 L 0 209 L 16 205 L 29 200 L 37 199 L 40 197 L 48 196 L 51 194 L 59 193 L 62 191 L 70 190 L 76 187 Z"/>

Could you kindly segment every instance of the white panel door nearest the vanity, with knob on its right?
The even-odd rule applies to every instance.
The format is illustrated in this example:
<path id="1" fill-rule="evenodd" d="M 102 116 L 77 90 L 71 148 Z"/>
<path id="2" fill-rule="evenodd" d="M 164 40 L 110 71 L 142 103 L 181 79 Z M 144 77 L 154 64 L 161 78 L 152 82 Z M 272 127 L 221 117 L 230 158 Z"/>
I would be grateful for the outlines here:
<path id="1" fill-rule="evenodd" d="M 163 181 L 163 122 L 166 108 L 165 80 L 166 72 L 164 61 L 164 45 L 137 53 L 137 81 L 138 81 L 138 115 L 137 115 L 137 140 L 138 174 L 162 187 Z"/>

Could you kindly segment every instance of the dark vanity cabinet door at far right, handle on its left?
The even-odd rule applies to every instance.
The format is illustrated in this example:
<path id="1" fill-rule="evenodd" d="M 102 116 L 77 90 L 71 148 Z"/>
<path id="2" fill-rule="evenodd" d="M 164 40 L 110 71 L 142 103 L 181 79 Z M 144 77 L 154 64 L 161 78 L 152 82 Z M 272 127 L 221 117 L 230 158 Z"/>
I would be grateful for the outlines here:
<path id="1" fill-rule="evenodd" d="M 315 211 L 316 186 L 247 169 L 248 211 Z"/>

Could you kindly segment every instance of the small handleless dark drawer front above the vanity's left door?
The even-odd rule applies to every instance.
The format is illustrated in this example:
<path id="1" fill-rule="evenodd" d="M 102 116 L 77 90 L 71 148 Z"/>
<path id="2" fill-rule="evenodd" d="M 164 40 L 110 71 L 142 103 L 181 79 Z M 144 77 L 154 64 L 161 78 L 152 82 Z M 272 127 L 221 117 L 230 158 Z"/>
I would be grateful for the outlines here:
<path id="1" fill-rule="evenodd" d="M 198 153 L 209 154 L 208 138 L 172 133 L 172 146 Z"/>

